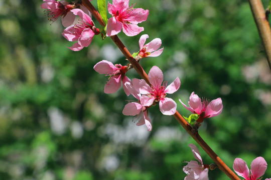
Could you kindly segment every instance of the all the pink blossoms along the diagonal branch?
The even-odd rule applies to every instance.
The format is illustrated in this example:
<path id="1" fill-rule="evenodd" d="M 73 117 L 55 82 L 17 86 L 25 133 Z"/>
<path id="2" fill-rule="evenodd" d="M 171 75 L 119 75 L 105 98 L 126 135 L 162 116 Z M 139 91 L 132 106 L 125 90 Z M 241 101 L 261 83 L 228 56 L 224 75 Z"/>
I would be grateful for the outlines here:
<path id="1" fill-rule="evenodd" d="M 68 47 L 74 51 L 89 46 L 94 35 L 100 33 L 105 33 L 101 34 L 102 36 L 113 36 L 122 30 L 127 36 L 138 35 L 144 30 L 144 27 L 140 27 L 138 24 L 146 21 L 149 15 L 148 9 L 134 8 L 134 4 L 129 5 L 129 0 L 112 0 L 112 3 L 108 2 L 107 4 L 108 12 L 112 17 L 108 19 L 106 26 L 100 30 L 95 26 L 90 11 L 80 4 L 81 0 L 72 2 L 65 0 L 43 1 L 41 7 L 46 9 L 45 14 L 50 21 L 54 22 L 61 17 L 62 24 L 66 27 L 62 35 L 67 40 L 75 42 L 71 47 Z M 74 22 L 76 16 L 79 17 L 79 20 Z M 138 62 L 142 58 L 159 56 L 164 50 L 164 47 L 160 48 L 162 45 L 160 38 L 155 38 L 146 43 L 147 38 L 149 38 L 149 35 L 143 34 L 139 39 L 139 51 L 133 55 Z M 152 120 L 149 117 L 148 109 L 159 104 L 162 114 L 175 114 L 177 103 L 172 98 L 167 97 L 167 94 L 176 92 L 180 88 L 181 81 L 179 77 L 176 77 L 168 85 L 168 81 L 164 81 L 162 70 L 156 65 L 149 71 L 149 82 L 138 78 L 130 79 L 127 77 L 127 71 L 131 68 L 133 68 L 131 64 L 113 64 L 108 60 L 101 60 L 94 65 L 95 71 L 109 76 L 104 86 L 105 93 L 115 93 L 122 84 L 125 94 L 127 96 L 131 94 L 137 99 L 136 101 L 129 101 L 124 106 L 122 113 L 135 116 L 134 119 L 137 121 L 137 125 L 145 124 L 147 129 L 151 131 Z M 223 109 L 220 97 L 209 101 L 206 98 L 200 98 L 195 92 L 192 92 L 189 97 L 189 106 L 185 105 L 181 99 L 179 101 L 187 110 L 193 113 L 191 115 L 194 115 L 193 118 L 196 118 L 195 124 L 197 124 L 197 128 L 204 119 L 219 115 Z M 196 127 L 194 122 L 189 121 L 189 123 L 192 127 Z M 189 144 L 189 146 L 198 161 L 185 161 L 187 165 L 183 167 L 183 171 L 187 176 L 184 179 L 208 180 L 208 170 L 215 168 L 216 165 L 203 164 L 198 148 L 194 144 Z M 257 157 L 251 162 L 250 171 L 246 162 L 241 158 L 236 158 L 233 163 L 235 172 L 246 180 L 260 178 L 264 174 L 266 167 L 267 163 L 263 157 Z M 271 180 L 271 178 L 266 178 L 265 180 Z"/>

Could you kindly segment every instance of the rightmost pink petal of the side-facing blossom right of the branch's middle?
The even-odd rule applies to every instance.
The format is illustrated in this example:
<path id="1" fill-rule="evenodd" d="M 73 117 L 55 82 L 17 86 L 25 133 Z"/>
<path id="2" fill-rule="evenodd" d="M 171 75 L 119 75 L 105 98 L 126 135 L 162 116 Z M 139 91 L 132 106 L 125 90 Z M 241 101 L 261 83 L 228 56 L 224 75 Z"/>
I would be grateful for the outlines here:
<path id="1" fill-rule="evenodd" d="M 190 105 L 191 106 L 191 105 Z M 205 116 L 213 117 L 219 115 L 223 109 L 223 104 L 221 98 L 212 100 L 206 107 Z"/>

